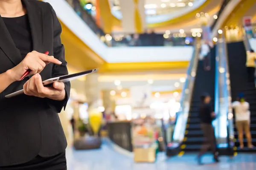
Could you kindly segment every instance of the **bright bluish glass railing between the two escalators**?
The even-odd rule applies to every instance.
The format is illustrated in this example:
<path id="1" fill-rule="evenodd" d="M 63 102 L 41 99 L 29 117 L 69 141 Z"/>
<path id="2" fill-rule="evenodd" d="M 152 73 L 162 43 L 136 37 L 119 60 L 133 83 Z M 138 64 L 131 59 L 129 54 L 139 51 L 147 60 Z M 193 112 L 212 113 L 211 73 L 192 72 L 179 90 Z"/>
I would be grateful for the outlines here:
<path id="1" fill-rule="evenodd" d="M 216 51 L 216 85 L 215 96 L 218 99 L 215 108 L 218 114 L 215 120 L 215 136 L 219 148 L 233 149 L 234 128 L 233 109 L 230 88 L 230 73 L 228 66 L 227 47 L 224 36 L 218 39 Z"/>

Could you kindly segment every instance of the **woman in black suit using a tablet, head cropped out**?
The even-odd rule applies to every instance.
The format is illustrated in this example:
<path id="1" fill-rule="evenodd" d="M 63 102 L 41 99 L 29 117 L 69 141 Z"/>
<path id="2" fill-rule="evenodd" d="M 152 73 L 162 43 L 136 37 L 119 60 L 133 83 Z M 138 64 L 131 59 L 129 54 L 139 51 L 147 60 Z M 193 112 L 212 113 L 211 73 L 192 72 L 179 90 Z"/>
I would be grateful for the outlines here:
<path id="1" fill-rule="evenodd" d="M 0 0 L 0 15 L 0 170 L 66 170 L 58 113 L 70 83 L 42 85 L 68 74 L 61 25 L 52 6 L 37 0 Z M 4 97 L 22 88 L 25 94 Z"/>

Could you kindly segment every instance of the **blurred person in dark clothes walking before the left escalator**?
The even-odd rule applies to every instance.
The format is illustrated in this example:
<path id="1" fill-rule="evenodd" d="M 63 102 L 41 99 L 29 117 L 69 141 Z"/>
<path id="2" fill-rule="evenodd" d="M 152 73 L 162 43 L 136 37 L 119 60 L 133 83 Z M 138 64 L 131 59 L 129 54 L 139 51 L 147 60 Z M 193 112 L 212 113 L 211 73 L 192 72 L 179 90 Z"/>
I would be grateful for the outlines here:
<path id="1" fill-rule="evenodd" d="M 201 147 L 200 153 L 198 155 L 198 164 L 202 164 L 201 157 L 209 150 L 212 150 L 213 159 L 218 162 L 218 152 L 216 148 L 214 128 L 212 127 L 212 120 L 215 119 L 216 115 L 212 111 L 211 107 L 211 97 L 209 94 L 204 94 L 201 96 L 201 104 L 199 109 L 199 118 L 201 121 L 201 129 L 204 133 L 204 143 Z"/>

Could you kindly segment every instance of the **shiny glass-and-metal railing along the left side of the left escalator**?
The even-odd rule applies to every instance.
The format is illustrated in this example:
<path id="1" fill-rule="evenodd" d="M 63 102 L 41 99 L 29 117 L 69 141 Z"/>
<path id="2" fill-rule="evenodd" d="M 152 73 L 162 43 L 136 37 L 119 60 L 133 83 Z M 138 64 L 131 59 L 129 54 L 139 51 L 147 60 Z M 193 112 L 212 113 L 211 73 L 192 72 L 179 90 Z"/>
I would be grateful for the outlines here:
<path id="1" fill-rule="evenodd" d="M 197 71 L 199 51 L 200 40 L 195 40 L 194 52 L 189 63 L 189 68 L 187 69 L 186 81 L 182 89 L 180 111 L 177 114 L 177 121 L 173 133 L 173 142 L 182 142 L 185 135 L 186 123 L 189 115 L 190 102 L 192 99 L 192 91 L 194 88 L 195 76 Z"/>

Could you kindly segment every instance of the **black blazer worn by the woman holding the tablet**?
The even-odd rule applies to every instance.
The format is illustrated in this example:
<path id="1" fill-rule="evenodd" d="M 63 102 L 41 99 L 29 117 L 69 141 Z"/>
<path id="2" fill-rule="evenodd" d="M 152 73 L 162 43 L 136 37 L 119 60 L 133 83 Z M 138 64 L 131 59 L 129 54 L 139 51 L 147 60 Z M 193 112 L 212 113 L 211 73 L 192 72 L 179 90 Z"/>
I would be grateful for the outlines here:
<path id="1" fill-rule="evenodd" d="M 52 6 L 37 0 L 22 2 L 29 17 L 33 50 L 49 51 L 49 55 L 62 62 L 61 65 L 47 65 L 41 72 L 42 79 L 68 74 L 60 38 L 61 24 Z M 0 74 L 15 67 L 22 59 L 0 17 Z M 22 89 L 28 79 L 14 82 L 0 93 L 0 167 L 22 164 L 37 155 L 54 156 L 65 152 L 67 147 L 58 113 L 67 104 L 70 83 L 65 83 L 66 97 L 61 102 L 26 95 L 4 98 L 6 94 Z"/>

